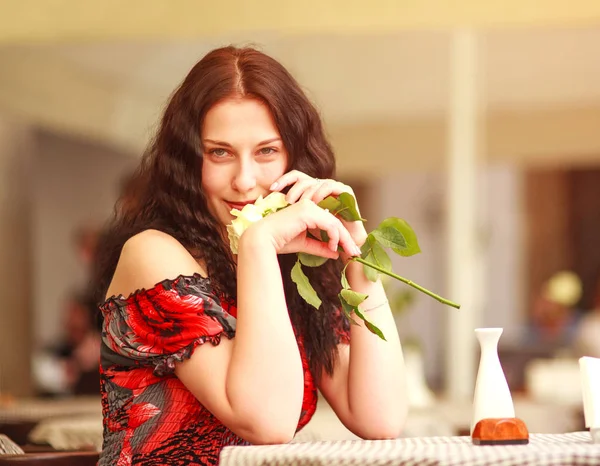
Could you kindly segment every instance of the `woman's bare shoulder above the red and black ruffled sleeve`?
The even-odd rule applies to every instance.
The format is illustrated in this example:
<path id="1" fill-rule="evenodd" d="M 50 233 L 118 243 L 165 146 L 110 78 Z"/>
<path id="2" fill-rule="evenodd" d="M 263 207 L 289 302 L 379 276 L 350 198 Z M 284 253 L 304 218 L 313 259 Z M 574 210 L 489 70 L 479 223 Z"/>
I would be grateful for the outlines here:
<path id="1" fill-rule="evenodd" d="M 165 279 L 195 273 L 206 276 L 203 268 L 179 241 L 162 231 L 145 230 L 123 245 L 107 297 L 128 296 Z"/>

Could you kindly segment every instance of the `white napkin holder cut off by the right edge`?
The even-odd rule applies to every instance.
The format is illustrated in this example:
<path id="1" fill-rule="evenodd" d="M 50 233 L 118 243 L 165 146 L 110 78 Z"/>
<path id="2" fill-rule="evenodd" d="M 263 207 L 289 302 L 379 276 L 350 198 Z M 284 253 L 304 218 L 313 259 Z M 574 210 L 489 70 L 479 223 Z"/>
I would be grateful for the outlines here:
<path id="1" fill-rule="evenodd" d="M 585 426 L 590 429 L 592 442 L 600 444 L 600 359 L 580 358 L 579 370 Z"/>

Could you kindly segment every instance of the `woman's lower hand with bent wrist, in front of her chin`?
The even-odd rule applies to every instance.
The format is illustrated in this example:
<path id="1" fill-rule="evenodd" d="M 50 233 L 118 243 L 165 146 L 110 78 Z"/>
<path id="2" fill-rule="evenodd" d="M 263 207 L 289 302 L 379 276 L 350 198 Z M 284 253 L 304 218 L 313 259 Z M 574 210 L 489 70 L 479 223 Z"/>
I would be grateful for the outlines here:
<path id="1" fill-rule="evenodd" d="M 311 238 L 310 230 L 323 230 L 329 242 Z M 293 205 L 251 225 L 240 238 L 240 247 L 248 241 L 270 241 L 277 254 L 304 252 L 330 259 L 338 258 L 338 246 L 350 256 L 360 255 L 360 248 L 342 222 L 309 199 Z"/>

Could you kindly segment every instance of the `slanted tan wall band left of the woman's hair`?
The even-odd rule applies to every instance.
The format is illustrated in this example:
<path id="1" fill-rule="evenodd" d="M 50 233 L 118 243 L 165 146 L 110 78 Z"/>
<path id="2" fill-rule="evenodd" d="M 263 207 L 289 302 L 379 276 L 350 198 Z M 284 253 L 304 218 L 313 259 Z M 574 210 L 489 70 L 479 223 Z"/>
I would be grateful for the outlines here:
<path id="1" fill-rule="evenodd" d="M 142 92 L 124 100 L 119 83 L 48 57 L 43 48 L 0 48 L 0 63 L 0 109 L 53 131 L 135 145 L 161 105 Z"/>

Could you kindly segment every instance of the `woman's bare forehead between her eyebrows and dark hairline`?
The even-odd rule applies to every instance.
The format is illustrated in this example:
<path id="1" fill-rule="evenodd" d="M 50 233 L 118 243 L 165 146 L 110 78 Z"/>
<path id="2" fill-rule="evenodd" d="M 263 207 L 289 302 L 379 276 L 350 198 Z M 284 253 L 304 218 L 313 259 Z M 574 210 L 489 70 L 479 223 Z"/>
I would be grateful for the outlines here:
<path id="1" fill-rule="evenodd" d="M 202 124 L 202 137 L 220 141 L 279 137 L 268 107 L 256 99 L 226 99 L 215 104 Z"/>

